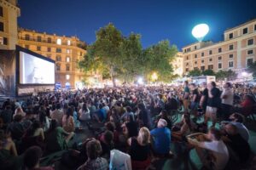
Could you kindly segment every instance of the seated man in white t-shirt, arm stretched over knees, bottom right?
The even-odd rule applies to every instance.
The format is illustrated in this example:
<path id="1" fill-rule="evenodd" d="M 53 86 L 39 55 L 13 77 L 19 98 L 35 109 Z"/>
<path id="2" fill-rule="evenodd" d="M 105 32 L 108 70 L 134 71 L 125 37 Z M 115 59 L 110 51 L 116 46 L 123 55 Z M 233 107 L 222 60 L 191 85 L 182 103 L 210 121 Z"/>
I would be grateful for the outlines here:
<path id="1" fill-rule="evenodd" d="M 196 137 L 198 139 L 194 139 Z M 187 138 L 189 144 L 195 146 L 195 150 L 204 167 L 214 170 L 221 170 L 226 167 L 230 159 L 229 151 L 221 140 L 221 133 L 218 129 L 212 127 L 207 134 L 195 133 L 189 135 Z"/>

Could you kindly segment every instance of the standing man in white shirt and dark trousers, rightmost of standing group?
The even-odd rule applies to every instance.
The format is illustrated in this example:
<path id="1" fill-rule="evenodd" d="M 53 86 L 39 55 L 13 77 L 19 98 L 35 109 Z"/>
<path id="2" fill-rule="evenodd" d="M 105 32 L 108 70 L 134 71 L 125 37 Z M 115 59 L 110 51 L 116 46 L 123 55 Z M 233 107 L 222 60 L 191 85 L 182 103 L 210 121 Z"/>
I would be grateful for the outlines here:
<path id="1" fill-rule="evenodd" d="M 234 100 L 232 84 L 230 82 L 224 83 L 223 92 L 220 98 L 221 98 L 221 114 L 224 120 L 227 120 L 230 116 L 230 108 L 233 105 L 233 100 Z"/>

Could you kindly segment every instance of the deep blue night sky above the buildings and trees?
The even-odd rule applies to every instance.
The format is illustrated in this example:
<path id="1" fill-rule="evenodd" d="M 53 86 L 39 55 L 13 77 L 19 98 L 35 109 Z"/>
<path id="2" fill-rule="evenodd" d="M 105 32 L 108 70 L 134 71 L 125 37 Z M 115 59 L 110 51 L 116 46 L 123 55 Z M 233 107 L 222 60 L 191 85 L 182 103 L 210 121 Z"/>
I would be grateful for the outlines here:
<path id="1" fill-rule="evenodd" d="M 112 22 L 127 36 L 142 35 L 143 47 L 169 39 L 179 49 L 195 42 L 193 26 L 206 23 L 205 40 L 223 40 L 227 28 L 256 18 L 256 0 L 19 0 L 19 26 L 91 43 Z"/>

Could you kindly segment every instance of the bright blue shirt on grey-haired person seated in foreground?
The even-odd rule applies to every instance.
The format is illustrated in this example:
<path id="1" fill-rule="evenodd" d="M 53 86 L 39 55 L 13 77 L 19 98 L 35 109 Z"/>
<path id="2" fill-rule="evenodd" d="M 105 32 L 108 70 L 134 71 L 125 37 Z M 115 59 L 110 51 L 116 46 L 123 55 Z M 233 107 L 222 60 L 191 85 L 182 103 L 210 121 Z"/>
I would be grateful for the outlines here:
<path id="1" fill-rule="evenodd" d="M 154 152 L 157 154 L 167 154 L 171 149 L 171 131 L 167 127 L 154 128 L 150 131 L 154 137 Z"/>

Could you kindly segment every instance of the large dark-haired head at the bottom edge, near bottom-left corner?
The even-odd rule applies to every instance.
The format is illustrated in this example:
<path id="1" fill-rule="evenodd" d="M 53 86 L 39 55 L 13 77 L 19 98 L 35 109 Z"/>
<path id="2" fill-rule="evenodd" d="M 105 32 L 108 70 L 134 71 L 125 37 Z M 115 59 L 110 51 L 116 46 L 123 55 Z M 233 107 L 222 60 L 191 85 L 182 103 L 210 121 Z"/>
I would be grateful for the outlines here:
<path id="1" fill-rule="evenodd" d="M 38 146 L 28 148 L 24 153 L 24 165 L 27 169 L 33 169 L 38 166 L 39 160 L 42 156 L 42 150 Z"/>

